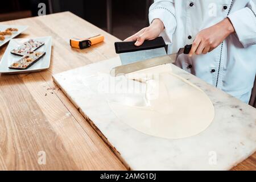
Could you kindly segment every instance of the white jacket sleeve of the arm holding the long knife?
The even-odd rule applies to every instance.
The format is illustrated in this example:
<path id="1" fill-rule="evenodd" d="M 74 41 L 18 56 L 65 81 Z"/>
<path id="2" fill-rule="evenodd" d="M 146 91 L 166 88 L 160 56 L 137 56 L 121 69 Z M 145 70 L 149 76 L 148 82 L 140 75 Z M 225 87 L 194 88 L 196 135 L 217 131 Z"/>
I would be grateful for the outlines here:
<path id="1" fill-rule="evenodd" d="M 243 47 L 256 44 L 256 0 L 228 16 Z"/>

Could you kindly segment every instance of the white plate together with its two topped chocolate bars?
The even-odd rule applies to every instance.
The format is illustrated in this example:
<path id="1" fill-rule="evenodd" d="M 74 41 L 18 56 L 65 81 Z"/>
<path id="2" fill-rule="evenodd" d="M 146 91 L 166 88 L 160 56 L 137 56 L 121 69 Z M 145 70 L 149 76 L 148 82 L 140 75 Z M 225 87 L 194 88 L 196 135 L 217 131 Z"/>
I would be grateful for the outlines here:
<path id="1" fill-rule="evenodd" d="M 51 50 L 51 36 L 11 39 L 0 61 L 0 73 L 27 73 L 47 69 L 51 63 Z"/>

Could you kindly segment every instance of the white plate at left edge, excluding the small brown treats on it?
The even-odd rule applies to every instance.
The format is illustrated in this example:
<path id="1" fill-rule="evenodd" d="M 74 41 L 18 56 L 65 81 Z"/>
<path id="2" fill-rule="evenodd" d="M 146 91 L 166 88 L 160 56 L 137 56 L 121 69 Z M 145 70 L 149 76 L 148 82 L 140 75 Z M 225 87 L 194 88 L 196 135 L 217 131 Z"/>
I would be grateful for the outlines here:
<path id="1" fill-rule="evenodd" d="M 13 35 L 6 35 L 5 40 L 0 40 L 0 47 L 3 46 L 3 44 L 9 42 L 9 40 L 15 38 L 15 36 L 18 36 L 20 33 L 25 31 L 28 26 L 0 24 L 0 31 L 5 31 L 6 28 L 18 28 L 18 31 L 12 32 Z"/>

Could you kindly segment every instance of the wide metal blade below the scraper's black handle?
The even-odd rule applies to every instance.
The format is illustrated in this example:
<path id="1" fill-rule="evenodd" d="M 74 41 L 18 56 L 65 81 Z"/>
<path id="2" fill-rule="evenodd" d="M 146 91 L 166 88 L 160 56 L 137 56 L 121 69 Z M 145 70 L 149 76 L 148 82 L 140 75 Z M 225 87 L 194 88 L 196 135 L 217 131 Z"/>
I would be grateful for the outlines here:
<path id="1" fill-rule="evenodd" d="M 126 65 L 164 55 L 167 55 L 166 49 L 161 47 L 142 51 L 120 53 L 119 57 L 121 59 L 122 65 Z"/>

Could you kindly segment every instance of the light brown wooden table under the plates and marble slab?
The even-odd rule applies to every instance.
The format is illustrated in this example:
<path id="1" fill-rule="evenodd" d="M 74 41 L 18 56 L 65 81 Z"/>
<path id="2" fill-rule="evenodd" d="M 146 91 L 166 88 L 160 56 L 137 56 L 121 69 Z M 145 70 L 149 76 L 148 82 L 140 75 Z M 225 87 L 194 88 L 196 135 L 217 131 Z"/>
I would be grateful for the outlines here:
<path id="1" fill-rule="evenodd" d="M 0 76 L 0 170 L 126 170 L 52 81 L 55 73 L 117 56 L 118 39 L 69 12 L 1 24 L 28 25 L 19 38 L 52 36 L 53 45 L 46 71 Z M 97 34 L 104 43 L 69 47 L 72 37 Z M 44 152 L 46 164 L 40 163 Z M 256 169 L 256 153 L 233 169 Z"/>

